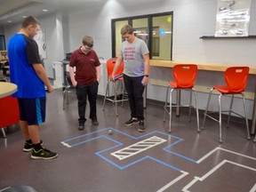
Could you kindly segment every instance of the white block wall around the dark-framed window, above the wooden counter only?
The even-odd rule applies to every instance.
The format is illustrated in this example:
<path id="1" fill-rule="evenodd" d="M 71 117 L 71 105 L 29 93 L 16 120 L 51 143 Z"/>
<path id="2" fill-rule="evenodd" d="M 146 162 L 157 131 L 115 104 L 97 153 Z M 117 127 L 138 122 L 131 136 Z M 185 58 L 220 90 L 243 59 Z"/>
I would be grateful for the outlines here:
<path id="1" fill-rule="evenodd" d="M 160 2 L 122 7 L 115 1 L 109 1 L 99 8 L 99 12 L 84 12 L 83 8 L 68 12 L 70 51 L 76 49 L 82 37 L 88 34 L 94 37 L 94 48 L 99 55 L 108 58 L 111 56 L 111 19 L 173 12 L 173 60 L 255 64 L 256 39 L 200 39 L 200 36 L 214 35 L 216 0 Z M 256 34 L 255 6 L 256 1 L 252 0 L 250 35 Z"/>

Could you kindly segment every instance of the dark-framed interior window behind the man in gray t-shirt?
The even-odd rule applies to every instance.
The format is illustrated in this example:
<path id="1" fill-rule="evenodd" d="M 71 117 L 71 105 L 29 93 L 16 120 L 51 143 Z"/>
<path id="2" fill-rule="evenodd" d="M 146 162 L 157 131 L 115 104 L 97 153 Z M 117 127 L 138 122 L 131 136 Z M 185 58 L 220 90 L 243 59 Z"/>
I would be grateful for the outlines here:
<path id="1" fill-rule="evenodd" d="M 172 12 L 111 20 L 112 57 L 117 57 L 124 39 L 121 28 L 129 24 L 134 35 L 148 44 L 151 60 L 172 60 Z"/>

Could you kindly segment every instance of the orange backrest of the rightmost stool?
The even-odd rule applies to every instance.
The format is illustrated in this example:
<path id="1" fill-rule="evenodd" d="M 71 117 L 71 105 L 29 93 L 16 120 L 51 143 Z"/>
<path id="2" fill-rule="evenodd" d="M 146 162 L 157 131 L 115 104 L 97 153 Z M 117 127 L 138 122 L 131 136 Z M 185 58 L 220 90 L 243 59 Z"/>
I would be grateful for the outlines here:
<path id="1" fill-rule="evenodd" d="M 249 75 L 248 67 L 231 67 L 225 71 L 228 92 L 244 92 Z"/>

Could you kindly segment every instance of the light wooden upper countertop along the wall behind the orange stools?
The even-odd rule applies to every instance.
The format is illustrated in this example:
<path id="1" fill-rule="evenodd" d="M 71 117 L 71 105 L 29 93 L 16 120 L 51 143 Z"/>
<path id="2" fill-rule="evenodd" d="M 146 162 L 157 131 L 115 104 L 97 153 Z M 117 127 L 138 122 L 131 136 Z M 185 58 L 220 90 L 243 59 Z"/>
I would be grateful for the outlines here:
<path id="1" fill-rule="evenodd" d="M 250 68 L 250 74 L 256 75 L 256 67 L 252 65 L 237 65 L 237 64 L 221 64 L 221 63 L 201 63 L 201 62 L 189 62 L 180 60 L 150 60 L 150 66 L 160 68 L 173 68 L 177 64 L 196 64 L 199 70 L 208 71 L 225 71 L 229 67 L 235 66 L 248 66 Z"/>

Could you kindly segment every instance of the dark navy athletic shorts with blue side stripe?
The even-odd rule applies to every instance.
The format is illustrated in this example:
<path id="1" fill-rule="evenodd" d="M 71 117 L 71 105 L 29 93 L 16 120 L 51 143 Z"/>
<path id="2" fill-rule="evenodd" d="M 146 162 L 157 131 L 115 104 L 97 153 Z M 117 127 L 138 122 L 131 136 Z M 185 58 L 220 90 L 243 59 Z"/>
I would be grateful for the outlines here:
<path id="1" fill-rule="evenodd" d="M 20 120 L 27 121 L 28 125 L 42 124 L 45 121 L 46 98 L 20 99 Z"/>

